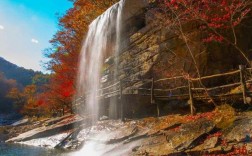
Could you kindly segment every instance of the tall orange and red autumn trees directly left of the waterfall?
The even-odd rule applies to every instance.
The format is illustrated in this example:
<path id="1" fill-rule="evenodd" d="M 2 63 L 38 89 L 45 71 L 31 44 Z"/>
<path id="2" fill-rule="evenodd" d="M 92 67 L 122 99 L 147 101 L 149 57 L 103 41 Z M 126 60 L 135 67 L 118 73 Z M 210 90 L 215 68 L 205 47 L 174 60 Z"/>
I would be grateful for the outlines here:
<path id="1" fill-rule="evenodd" d="M 47 49 L 47 68 L 52 72 L 47 97 L 53 110 L 72 111 L 82 42 L 89 24 L 117 0 L 74 0 L 73 8 L 59 20 L 59 30 Z"/>

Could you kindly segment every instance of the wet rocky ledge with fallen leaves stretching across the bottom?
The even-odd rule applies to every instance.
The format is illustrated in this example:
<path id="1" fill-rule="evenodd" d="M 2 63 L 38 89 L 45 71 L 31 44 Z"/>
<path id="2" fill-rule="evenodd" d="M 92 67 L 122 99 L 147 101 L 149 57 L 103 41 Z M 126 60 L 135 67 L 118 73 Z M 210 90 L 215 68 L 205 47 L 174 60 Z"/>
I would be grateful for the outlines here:
<path id="1" fill-rule="evenodd" d="M 66 115 L 0 127 L 0 139 L 8 143 L 95 155 L 250 155 L 251 136 L 252 112 L 228 105 L 195 116 L 103 120 L 94 126 L 88 118 Z"/>

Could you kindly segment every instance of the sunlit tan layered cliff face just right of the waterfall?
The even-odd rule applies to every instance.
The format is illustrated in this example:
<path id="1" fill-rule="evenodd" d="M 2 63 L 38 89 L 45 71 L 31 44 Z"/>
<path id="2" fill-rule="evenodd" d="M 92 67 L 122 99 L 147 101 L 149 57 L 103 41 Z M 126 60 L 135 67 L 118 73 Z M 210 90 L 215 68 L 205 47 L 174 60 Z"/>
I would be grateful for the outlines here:
<path id="1" fill-rule="evenodd" d="M 149 11 L 146 10 L 129 20 L 131 29 L 126 29 L 125 32 L 128 33 L 125 34 L 130 36 L 124 39 L 118 58 L 118 79 L 124 80 L 124 88 L 129 87 L 129 90 L 124 90 L 125 93 L 136 93 L 132 87 L 142 86 L 146 79 L 172 77 L 181 73 L 195 75 L 188 48 L 180 36 L 156 23 L 156 19 L 150 18 Z M 193 29 L 194 26 L 190 27 Z M 198 32 L 192 31 L 190 37 L 191 50 L 196 56 L 200 71 L 204 73 L 207 53 L 202 51 L 205 51 L 206 47 L 199 44 Z M 108 70 L 112 74 L 114 66 L 110 65 Z"/>

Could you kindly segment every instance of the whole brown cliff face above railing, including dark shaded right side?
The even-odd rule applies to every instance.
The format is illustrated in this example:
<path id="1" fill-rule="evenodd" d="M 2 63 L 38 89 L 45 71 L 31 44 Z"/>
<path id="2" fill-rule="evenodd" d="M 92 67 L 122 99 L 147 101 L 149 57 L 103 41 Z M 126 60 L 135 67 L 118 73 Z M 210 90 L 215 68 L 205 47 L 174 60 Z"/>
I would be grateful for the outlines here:
<path id="1" fill-rule="evenodd" d="M 182 74 L 197 77 L 188 46 L 196 59 L 201 76 L 227 72 L 238 69 L 240 64 L 246 64 L 231 45 L 202 43 L 203 34 L 198 31 L 197 25 L 185 26 L 184 31 L 188 37 L 186 45 L 181 36 L 160 24 L 149 9 L 138 12 L 128 21 L 130 24 L 127 28 L 131 29 L 126 29 L 124 33 L 130 36 L 124 39 L 118 66 L 118 79 L 127 80 L 126 88 L 142 86 L 141 80 L 149 78 L 159 79 Z M 246 25 L 249 24 L 251 20 L 248 19 Z M 248 52 L 252 48 L 252 35 L 249 35 L 252 34 L 251 29 L 240 27 L 237 32 L 241 48 Z M 109 69 L 114 70 L 113 65 Z"/>

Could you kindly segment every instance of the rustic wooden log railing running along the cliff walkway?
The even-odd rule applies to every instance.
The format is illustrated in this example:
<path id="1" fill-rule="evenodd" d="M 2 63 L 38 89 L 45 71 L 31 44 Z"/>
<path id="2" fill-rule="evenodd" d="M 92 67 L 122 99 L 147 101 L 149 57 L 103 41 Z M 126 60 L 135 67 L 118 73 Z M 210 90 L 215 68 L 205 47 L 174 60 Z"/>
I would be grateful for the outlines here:
<path id="1" fill-rule="evenodd" d="M 155 80 L 152 79 L 139 79 L 137 81 L 142 81 L 142 86 L 148 87 L 138 87 L 138 88 L 127 88 L 128 90 L 138 90 L 139 95 L 142 96 L 150 96 L 152 104 L 157 104 L 157 112 L 159 114 L 159 106 L 156 100 L 172 100 L 172 99 L 184 99 L 188 100 L 191 108 L 191 114 L 195 113 L 194 109 L 194 101 L 195 100 L 215 100 L 221 98 L 231 97 L 233 95 L 237 95 L 238 97 L 242 96 L 243 102 L 246 104 L 248 103 L 248 97 L 250 96 L 251 92 L 247 89 L 246 84 L 251 84 L 251 71 L 252 68 L 245 68 L 244 66 L 240 65 L 238 70 L 226 72 L 222 74 L 215 74 L 204 76 L 200 78 L 191 78 L 187 75 L 181 75 L 176 77 L 170 78 L 162 78 Z M 226 76 L 235 76 L 239 78 L 238 82 L 223 84 L 219 86 L 210 86 L 205 87 L 203 86 L 203 81 L 226 77 Z M 132 82 L 134 80 L 121 80 L 109 85 L 107 87 L 101 88 L 97 90 L 96 97 L 97 98 L 109 98 L 113 96 L 119 96 L 119 99 L 122 99 L 124 83 L 125 82 Z M 159 88 L 159 83 L 164 83 L 169 81 L 180 81 L 182 85 L 175 86 L 173 88 L 168 88 L 166 85 L 162 85 Z M 197 85 L 195 85 L 197 84 Z M 230 91 L 238 86 L 241 86 L 241 92 L 231 93 Z M 217 90 L 224 90 L 224 92 L 217 92 Z M 177 92 L 177 94 L 173 94 Z M 167 94 L 169 93 L 169 94 Z M 86 93 L 85 98 L 80 97 L 76 99 L 76 104 L 79 105 L 84 103 L 90 93 Z M 251 99 L 249 99 L 251 100 Z M 122 102 L 121 102 L 122 103 Z M 123 108 L 123 107 L 122 107 Z"/>

